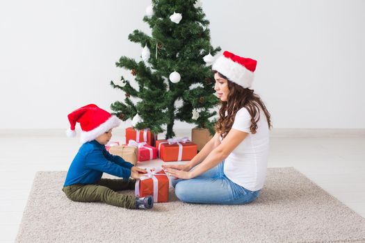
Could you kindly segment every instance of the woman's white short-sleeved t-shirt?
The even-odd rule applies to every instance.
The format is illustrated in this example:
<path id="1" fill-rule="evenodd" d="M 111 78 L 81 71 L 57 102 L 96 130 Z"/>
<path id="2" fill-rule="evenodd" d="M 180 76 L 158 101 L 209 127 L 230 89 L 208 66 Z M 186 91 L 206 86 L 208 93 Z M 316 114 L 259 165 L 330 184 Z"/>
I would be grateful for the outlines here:
<path id="1" fill-rule="evenodd" d="M 251 115 L 241 108 L 234 117 L 233 129 L 248 133 L 225 159 L 225 175 L 234 183 L 251 191 L 260 190 L 268 165 L 269 128 L 265 113 L 260 109 L 257 133 L 250 132 Z"/>

